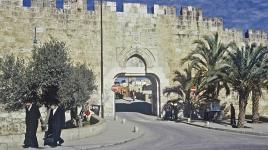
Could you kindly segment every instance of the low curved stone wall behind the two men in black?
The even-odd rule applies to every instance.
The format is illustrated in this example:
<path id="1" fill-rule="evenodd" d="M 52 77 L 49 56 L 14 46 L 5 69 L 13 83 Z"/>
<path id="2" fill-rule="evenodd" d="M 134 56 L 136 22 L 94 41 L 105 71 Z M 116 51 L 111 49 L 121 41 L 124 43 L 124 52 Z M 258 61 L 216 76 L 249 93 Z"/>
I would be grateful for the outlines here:
<path id="1" fill-rule="evenodd" d="M 90 136 L 97 135 L 103 132 L 106 129 L 106 122 L 105 120 L 97 117 L 92 116 L 95 119 L 98 119 L 99 122 L 94 125 L 87 125 L 81 128 L 72 128 L 72 129 L 64 129 L 61 133 L 62 138 L 65 141 L 71 141 L 76 139 L 82 139 Z M 44 132 L 37 133 L 38 144 L 43 145 Z M 0 148 L 1 150 L 5 147 L 20 147 L 23 145 L 24 141 L 24 134 L 16 134 L 16 135 L 0 135 Z M 3 147 L 1 147 L 3 146 Z M 2 149 L 3 148 L 3 149 Z"/>

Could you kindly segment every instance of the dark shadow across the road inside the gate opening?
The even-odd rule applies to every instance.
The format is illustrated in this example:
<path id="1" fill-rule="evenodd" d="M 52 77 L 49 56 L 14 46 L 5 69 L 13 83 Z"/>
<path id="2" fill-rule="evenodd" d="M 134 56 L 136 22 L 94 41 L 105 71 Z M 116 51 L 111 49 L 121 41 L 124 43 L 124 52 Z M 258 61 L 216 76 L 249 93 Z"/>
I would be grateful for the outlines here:
<path id="1" fill-rule="evenodd" d="M 116 112 L 139 112 L 146 115 L 152 115 L 152 105 L 147 102 L 116 103 Z"/>

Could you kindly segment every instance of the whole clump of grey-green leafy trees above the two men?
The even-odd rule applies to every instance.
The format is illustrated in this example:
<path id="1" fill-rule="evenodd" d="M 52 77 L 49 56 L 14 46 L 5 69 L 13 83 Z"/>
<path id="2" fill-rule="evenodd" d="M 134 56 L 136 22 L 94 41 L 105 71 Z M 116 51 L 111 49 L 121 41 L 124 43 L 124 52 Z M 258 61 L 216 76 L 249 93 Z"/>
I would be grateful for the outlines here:
<path id="1" fill-rule="evenodd" d="M 93 71 L 83 64 L 73 66 L 64 42 L 55 39 L 32 51 L 32 60 L 7 56 L 0 61 L 0 103 L 7 110 L 22 107 L 25 99 L 50 104 L 53 96 L 66 109 L 89 100 L 96 89 Z"/>

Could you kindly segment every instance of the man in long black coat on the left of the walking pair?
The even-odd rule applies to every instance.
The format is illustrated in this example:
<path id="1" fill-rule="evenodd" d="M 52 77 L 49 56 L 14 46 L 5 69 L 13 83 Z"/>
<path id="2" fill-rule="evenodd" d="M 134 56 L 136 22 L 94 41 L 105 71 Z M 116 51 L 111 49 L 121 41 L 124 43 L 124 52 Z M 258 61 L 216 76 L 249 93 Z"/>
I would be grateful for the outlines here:
<path id="1" fill-rule="evenodd" d="M 33 147 L 38 148 L 36 138 L 36 131 L 38 127 L 38 120 L 41 117 L 39 108 L 31 101 L 26 100 L 26 134 L 24 140 L 24 148 Z"/>

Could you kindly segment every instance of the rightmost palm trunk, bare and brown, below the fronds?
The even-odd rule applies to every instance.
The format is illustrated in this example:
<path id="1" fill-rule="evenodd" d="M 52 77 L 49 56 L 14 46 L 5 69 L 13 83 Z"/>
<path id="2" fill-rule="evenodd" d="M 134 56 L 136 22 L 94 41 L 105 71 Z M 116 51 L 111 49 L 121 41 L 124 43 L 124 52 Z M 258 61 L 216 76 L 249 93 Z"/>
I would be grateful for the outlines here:
<path id="1" fill-rule="evenodd" d="M 260 92 L 254 91 L 252 92 L 252 122 L 259 122 L 259 100 L 260 100 Z"/>

